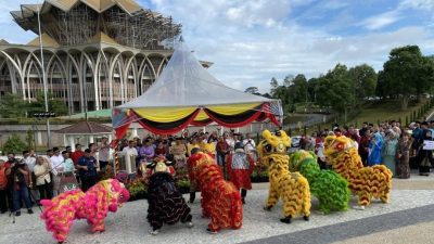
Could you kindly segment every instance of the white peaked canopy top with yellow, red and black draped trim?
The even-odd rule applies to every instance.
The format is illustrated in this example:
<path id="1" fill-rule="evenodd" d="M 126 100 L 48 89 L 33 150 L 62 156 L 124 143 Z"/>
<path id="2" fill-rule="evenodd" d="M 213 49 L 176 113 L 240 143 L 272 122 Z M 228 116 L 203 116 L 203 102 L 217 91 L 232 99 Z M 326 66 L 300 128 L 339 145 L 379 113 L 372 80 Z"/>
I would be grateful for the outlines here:
<path id="1" fill-rule="evenodd" d="M 280 100 L 245 93 L 213 77 L 180 41 L 170 61 L 150 89 L 112 111 L 117 138 L 132 121 L 157 134 L 173 134 L 189 125 L 210 123 L 237 128 L 269 119 L 277 126 L 282 118 Z"/>

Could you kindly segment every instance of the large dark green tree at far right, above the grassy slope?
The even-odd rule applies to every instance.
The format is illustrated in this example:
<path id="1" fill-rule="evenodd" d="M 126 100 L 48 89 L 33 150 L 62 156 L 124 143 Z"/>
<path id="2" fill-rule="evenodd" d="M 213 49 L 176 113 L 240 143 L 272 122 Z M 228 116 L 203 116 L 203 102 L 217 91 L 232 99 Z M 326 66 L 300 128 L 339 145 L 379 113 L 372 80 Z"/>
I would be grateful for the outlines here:
<path id="1" fill-rule="evenodd" d="M 406 110 L 411 94 L 429 91 L 434 80 L 434 67 L 430 57 L 423 56 L 418 46 L 395 48 L 379 74 L 382 95 L 400 98 Z"/>

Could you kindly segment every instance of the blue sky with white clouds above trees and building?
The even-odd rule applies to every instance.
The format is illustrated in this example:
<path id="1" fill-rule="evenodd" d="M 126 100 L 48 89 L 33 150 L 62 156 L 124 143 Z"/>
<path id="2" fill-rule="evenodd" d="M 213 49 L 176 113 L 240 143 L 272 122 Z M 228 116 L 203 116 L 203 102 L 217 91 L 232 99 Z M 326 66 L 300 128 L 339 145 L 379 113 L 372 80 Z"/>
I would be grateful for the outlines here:
<path id="1" fill-rule="evenodd" d="M 434 0 L 137 0 L 173 16 L 199 60 L 235 89 L 269 91 L 272 77 L 317 77 L 337 63 L 381 70 L 393 48 L 418 44 L 434 54 Z M 8 13 L 20 3 L 0 0 L 0 39 L 26 43 Z"/>

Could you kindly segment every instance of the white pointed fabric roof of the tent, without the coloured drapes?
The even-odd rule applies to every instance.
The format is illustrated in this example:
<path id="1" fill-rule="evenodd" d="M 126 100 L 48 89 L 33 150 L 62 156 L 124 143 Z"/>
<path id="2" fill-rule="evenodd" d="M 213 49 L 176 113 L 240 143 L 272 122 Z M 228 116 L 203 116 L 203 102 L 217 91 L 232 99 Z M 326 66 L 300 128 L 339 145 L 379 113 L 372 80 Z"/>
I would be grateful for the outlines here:
<path id="1" fill-rule="evenodd" d="M 199 63 L 186 43 L 180 42 L 151 88 L 117 108 L 206 106 L 271 101 L 277 100 L 225 86 Z"/>

